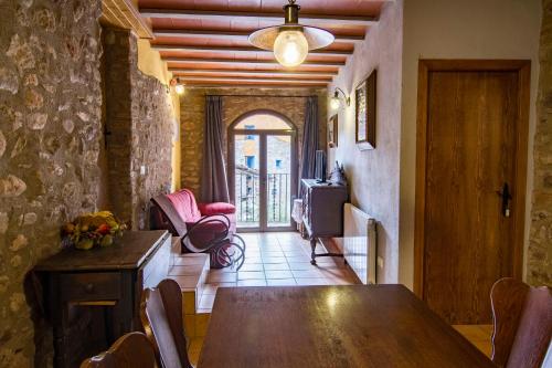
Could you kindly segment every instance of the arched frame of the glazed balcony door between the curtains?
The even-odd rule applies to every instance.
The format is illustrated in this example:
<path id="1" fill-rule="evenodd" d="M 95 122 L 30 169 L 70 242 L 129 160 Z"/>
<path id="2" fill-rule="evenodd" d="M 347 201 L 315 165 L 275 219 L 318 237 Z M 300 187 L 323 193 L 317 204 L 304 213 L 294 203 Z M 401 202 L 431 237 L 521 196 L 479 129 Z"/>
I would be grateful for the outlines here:
<path id="1" fill-rule="evenodd" d="M 234 126 L 240 124 L 242 120 L 254 116 L 254 115 L 272 115 L 277 118 L 284 120 L 287 125 L 289 125 L 290 129 L 234 129 Z M 240 117 L 237 117 L 227 128 L 227 160 L 229 160 L 229 170 L 227 170 L 227 181 L 230 187 L 230 199 L 235 204 L 235 157 L 234 157 L 234 138 L 236 135 L 253 135 L 259 137 L 259 201 L 261 203 L 267 203 L 267 183 L 266 177 L 263 178 L 263 174 L 266 174 L 266 140 L 267 136 L 290 136 L 290 149 L 291 149 L 291 161 L 290 161 L 290 191 L 289 191 L 289 215 L 291 217 L 291 208 L 294 203 L 294 198 L 297 197 L 297 186 L 298 186 L 298 176 L 299 176 L 299 160 L 298 160 L 298 151 L 297 151 L 297 127 L 295 124 L 287 118 L 287 116 L 282 115 L 272 109 L 255 109 L 247 112 Z M 259 207 L 261 209 L 262 207 Z M 259 210 L 259 225 L 255 228 L 241 228 L 238 232 L 277 232 L 277 231 L 290 231 L 295 230 L 295 221 L 290 218 L 289 227 L 268 227 L 266 219 L 266 209 Z M 236 219 L 237 221 L 237 219 Z"/>

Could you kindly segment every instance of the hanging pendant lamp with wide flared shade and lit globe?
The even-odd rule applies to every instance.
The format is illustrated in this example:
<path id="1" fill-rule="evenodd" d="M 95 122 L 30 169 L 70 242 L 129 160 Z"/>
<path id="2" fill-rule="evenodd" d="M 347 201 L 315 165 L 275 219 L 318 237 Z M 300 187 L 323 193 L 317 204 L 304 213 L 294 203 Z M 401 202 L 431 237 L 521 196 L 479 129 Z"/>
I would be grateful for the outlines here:
<path id="1" fill-rule="evenodd" d="M 250 34 L 250 43 L 263 50 L 274 51 L 274 56 L 282 65 L 300 65 L 310 50 L 326 48 L 335 40 L 330 32 L 299 24 L 299 10 L 296 0 L 288 0 L 284 6 L 285 22 L 268 27 Z"/>

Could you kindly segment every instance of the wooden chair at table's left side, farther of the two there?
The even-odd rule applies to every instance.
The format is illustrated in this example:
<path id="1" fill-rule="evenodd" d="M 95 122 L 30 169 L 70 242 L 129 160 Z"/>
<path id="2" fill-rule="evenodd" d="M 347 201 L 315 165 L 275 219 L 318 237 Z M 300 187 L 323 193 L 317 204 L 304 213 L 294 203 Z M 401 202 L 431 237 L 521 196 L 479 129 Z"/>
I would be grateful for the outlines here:
<path id="1" fill-rule="evenodd" d="M 193 368 L 182 323 L 182 293 L 176 281 L 166 278 L 142 293 L 140 318 L 160 367 Z"/>

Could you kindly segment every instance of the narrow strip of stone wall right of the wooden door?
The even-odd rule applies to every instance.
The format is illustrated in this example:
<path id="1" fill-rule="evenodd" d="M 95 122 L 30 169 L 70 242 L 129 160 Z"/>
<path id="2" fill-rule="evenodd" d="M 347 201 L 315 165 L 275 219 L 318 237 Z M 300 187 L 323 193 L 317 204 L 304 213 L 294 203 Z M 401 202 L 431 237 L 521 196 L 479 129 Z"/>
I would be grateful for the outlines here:
<path id="1" fill-rule="evenodd" d="M 544 0 L 527 281 L 552 286 L 552 0 Z"/>

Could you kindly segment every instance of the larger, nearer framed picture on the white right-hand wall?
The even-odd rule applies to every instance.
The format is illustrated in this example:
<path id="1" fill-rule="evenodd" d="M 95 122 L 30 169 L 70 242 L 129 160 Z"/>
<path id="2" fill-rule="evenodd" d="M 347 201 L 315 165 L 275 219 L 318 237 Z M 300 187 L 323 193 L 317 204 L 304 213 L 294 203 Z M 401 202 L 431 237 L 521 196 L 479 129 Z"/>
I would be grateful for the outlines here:
<path id="1" fill-rule="evenodd" d="M 375 149 L 375 82 L 374 70 L 355 91 L 355 141 L 361 150 Z"/>

